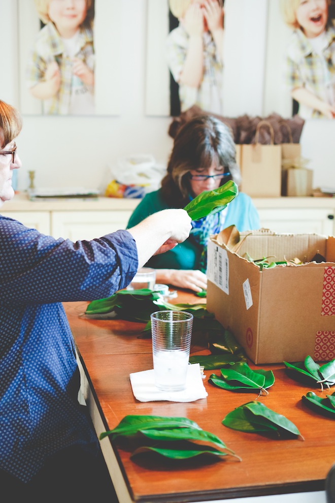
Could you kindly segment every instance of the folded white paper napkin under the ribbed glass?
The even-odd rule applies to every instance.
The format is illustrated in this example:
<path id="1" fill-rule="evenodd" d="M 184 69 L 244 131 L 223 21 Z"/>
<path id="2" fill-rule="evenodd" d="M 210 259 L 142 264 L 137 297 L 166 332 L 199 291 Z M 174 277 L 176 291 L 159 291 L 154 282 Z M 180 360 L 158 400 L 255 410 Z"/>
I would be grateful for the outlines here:
<path id="1" fill-rule="evenodd" d="M 198 363 L 188 365 L 186 389 L 183 391 L 161 391 L 156 388 L 153 369 L 131 373 L 129 376 L 132 392 L 135 398 L 140 402 L 151 402 L 155 400 L 193 402 L 194 400 L 206 398 L 208 396 Z"/>

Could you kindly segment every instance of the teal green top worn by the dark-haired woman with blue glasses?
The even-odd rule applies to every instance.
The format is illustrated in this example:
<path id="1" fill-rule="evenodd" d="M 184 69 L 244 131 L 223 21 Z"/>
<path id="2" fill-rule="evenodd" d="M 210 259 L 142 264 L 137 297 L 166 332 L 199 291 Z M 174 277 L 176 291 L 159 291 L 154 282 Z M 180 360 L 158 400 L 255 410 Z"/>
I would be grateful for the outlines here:
<path id="1" fill-rule="evenodd" d="M 162 198 L 161 189 L 150 192 L 133 211 L 127 229 L 139 224 L 147 216 L 169 207 Z M 240 232 L 260 228 L 258 212 L 251 198 L 244 193 L 240 192 L 228 204 L 222 229 L 230 225 L 235 225 Z M 200 269 L 202 251 L 203 247 L 190 236 L 174 249 L 151 257 L 146 265 L 154 269 Z"/>

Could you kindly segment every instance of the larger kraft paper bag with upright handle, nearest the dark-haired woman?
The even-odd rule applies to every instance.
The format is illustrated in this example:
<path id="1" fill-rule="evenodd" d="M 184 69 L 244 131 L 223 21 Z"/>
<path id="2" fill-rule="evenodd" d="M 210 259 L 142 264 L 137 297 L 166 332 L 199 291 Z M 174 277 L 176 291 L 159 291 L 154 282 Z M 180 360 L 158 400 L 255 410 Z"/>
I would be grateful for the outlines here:
<path id="1" fill-rule="evenodd" d="M 260 128 L 269 128 L 271 143 L 258 142 Z M 258 122 L 255 143 L 240 145 L 241 191 L 251 197 L 280 197 L 282 146 L 274 144 L 274 131 L 270 122 Z"/>

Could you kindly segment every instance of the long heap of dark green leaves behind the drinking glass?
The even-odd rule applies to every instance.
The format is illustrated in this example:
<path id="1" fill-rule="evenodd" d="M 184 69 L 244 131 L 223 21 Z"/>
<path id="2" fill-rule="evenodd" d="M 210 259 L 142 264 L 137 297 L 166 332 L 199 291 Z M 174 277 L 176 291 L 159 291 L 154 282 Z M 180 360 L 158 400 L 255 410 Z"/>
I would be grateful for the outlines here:
<path id="1" fill-rule="evenodd" d="M 244 350 L 235 337 L 215 320 L 213 313 L 207 311 L 206 304 L 170 304 L 152 290 L 120 290 L 106 299 L 90 302 L 85 315 L 146 323 L 142 337 L 151 337 L 151 313 L 166 309 L 190 312 L 193 315 L 193 332 L 201 332 L 204 340 L 207 338 L 212 355 L 191 357 L 191 363 L 200 363 L 207 370 L 246 360 Z"/>

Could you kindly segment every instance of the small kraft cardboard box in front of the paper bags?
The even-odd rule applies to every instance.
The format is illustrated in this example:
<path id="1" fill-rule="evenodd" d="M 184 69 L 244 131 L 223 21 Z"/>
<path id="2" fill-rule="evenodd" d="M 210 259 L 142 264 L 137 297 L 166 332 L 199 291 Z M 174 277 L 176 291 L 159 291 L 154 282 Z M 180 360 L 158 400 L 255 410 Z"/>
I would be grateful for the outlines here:
<path id="1" fill-rule="evenodd" d="M 282 170 L 282 196 L 311 196 L 313 171 L 306 168 Z"/>

